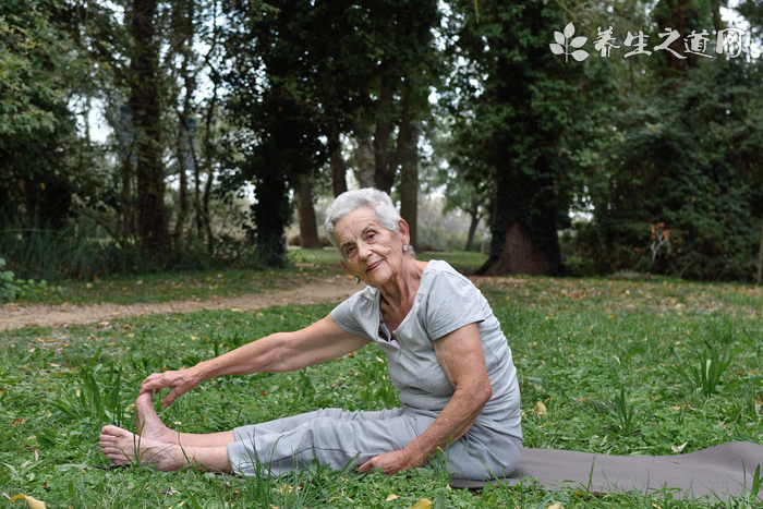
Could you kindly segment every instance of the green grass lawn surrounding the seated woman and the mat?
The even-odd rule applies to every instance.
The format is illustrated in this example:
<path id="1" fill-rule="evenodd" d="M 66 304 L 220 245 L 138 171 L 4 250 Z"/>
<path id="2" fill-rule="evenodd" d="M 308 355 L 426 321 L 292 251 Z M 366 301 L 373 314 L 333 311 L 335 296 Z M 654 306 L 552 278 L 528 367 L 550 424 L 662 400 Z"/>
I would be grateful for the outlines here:
<path id="1" fill-rule="evenodd" d="M 231 284 L 235 279 L 231 277 Z M 146 287 L 125 288 L 131 293 Z M 671 455 L 671 446 L 685 443 L 689 452 L 729 440 L 763 439 L 761 289 L 528 277 L 492 278 L 481 289 L 518 366 L 525 447 Z M 2 332 L 0 492 L 23 493 L 50 508 L 410 508 L 421 498 L 449 508 L 546 509 L 554 502 L 566 508 L 755 506 L 723 496 L 594 497 L 526 485 L 449 490 L 447 477 L 432 469 L 359 478 L 350 471 L 313 468 L 278 480 L 97 469 L 108 463 L 97 448 L 100 426 L 130 422 L 130 405 L 145 376 L 192 365 L 274 331 L 304 327 L 331 307 L 205 311 L 112 320 L 107 327 Z M 160 415 L 175 429 L 209 433 L 319 407 L 392 407 L 397 395 L 377 357 L 382 355 L 372 346 L 299 373 L 220 377 Z M 703 368 L 711 373 L 707 361 L 717 368 L 703 378 Z M 548 409 L 546 415 L 533 410 L 537 401 Z M 390 494 L 399 498 L 387 501 Z"/>

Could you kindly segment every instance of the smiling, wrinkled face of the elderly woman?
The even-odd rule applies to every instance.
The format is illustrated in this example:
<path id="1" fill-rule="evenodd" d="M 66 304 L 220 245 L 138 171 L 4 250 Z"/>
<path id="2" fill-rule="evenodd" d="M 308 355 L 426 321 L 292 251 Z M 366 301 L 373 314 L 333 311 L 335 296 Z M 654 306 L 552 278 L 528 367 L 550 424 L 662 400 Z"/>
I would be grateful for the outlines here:
<path id="1" fill-rule="evenodd" d="M 353 276 L 372 287 L 379 287 L 402 270 L 402 245 L 408 243 L 408 223 L 398 222 L 401 233 L 384 228 L 370 208 L 359 208 L 341 218 L 334 229 L 344 259 L 342 265 Z"/>

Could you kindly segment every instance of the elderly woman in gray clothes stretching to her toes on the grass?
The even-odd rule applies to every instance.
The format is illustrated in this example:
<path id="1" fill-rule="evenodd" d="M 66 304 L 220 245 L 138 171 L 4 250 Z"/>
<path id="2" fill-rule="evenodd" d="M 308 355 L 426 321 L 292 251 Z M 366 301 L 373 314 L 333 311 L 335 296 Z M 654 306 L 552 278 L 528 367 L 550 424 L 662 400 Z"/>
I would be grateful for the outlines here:
<path id="1" fill-rule="evenodd" d="M 456 477 L 511 473 L 522 434 L 511 351 L 482 293 L 444 262 L 417 262 L 408 223 L 387 194 L 348 191 L 327 210 L 325 229 L 342 266 L 367 288 L 322 320 L 274 334 L 194 367 L 155 373 L 141 385 L 137 433 L 105 426 L 104 455 L 140 458 L 170 471 L 189 463 L 253 475 L 258 459 L 272 474 L 317 460 L 386 474 L 447 461 Z M 387 355 L 401 408 L 380 412 L 323 409 L 208 435 L 177 433 L 154 412 L 220 375 L 289 372 L 340 357 L 370 342 Z"/>

